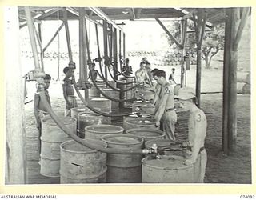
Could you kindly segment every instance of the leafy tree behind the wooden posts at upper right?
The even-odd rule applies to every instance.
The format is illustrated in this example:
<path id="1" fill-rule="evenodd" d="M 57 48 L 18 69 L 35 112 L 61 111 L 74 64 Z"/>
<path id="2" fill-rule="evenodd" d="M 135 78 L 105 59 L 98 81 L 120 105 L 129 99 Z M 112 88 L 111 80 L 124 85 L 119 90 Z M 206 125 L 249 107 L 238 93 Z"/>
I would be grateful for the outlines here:
<path id="1" fill-rule="evenodd" d="M 180 30 L 180 21 L 174 21 L 170 26 L 167 26 L 167 29 L 171 34 L 174 35 L 178 41 L 181 40 L 181 30 Z M 192 21 L 188 20 L 187 30 L 194 30 L 194 24 Z M 210 69 L 210 62 L 214 55 L 218 53 L 219 50 L 224 48 L 224 35 L 225 35 L 225 24 L 222 23 L 214 27 L 214 30 L 209 30 L 205 32 L 205 36 L 202 42 L 202 58 L 206 62 L 206 69 Z M 165 34 L 168 39 L 169 46 L 172 49 L 177 49 L 177 46 L 172 40 Z M 194 54 L 196 51 L 195 46 L 195 33 L 186 34 L 186 51 Z"/>

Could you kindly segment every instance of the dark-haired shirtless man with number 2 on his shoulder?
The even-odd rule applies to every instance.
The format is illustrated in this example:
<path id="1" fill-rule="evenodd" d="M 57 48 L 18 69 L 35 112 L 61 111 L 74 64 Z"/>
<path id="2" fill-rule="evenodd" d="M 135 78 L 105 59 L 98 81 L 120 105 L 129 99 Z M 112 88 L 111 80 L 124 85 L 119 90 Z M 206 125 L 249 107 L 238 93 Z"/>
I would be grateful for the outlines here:
<path id="1" fill-rule="evenodd" d="M 174 91 L 170 86 L 170 82 L 166 81 L 165 71 L 158 70 L 154 74 L 154 79 L 161 86 L 154 111 L 155 126 L 159 127 L 160 121 L 162 121 L 166 137 L 174 141 L 175 123 L 177 122 L 177 114 L 174 110 Z"/>

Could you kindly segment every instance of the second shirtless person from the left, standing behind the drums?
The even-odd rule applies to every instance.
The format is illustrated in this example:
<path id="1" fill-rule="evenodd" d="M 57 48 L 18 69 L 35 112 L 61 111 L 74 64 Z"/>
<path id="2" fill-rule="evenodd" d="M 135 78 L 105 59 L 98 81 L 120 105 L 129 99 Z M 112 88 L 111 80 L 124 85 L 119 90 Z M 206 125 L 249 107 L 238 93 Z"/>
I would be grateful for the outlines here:
<path id="1" fill-rule="evenodd" d="M 70 78 L 72 78 L 74 71 L 70 69 L 70 67 L 66 66 L 63 70 L 64 74 L 66 75 L 63 84 L 63 96 L 66 101 L 66 110 L 65 110 L 65 116 L 71 116 L 71 108 L 77 107 L 78 102 L 74 97 L 74 88 L 73 88 L 73 82 Z"/>

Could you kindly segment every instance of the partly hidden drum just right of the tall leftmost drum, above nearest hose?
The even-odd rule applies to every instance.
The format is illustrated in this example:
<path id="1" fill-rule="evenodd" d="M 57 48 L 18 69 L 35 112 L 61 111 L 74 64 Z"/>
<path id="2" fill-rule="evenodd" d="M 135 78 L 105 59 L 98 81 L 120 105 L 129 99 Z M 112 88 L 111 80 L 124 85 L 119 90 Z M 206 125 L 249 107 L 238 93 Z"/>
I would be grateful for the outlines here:
<path id="1" fill-rule="evenodd" d="M 110 124 L 111 118 L 104 117 L 99 114 L 92 112 L 82 112 L 78 114 L 78 136 L 85 138 L 86 126 L 99 125 L 99 124 Z"/>

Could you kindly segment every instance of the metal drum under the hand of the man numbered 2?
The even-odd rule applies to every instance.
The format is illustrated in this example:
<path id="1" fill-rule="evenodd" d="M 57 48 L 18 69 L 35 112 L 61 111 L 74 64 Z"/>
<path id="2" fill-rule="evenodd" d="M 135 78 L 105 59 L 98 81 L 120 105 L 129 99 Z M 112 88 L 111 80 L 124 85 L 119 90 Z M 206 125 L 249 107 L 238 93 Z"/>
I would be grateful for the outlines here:
<path id="1" fill-rule="evenodd" d="M 159 130 L 159 127 L 154 126 L 154 120 L 151 118 L 125 118 L 123 121 L 123 128 L 125 131 L 139 127 Z"/>

